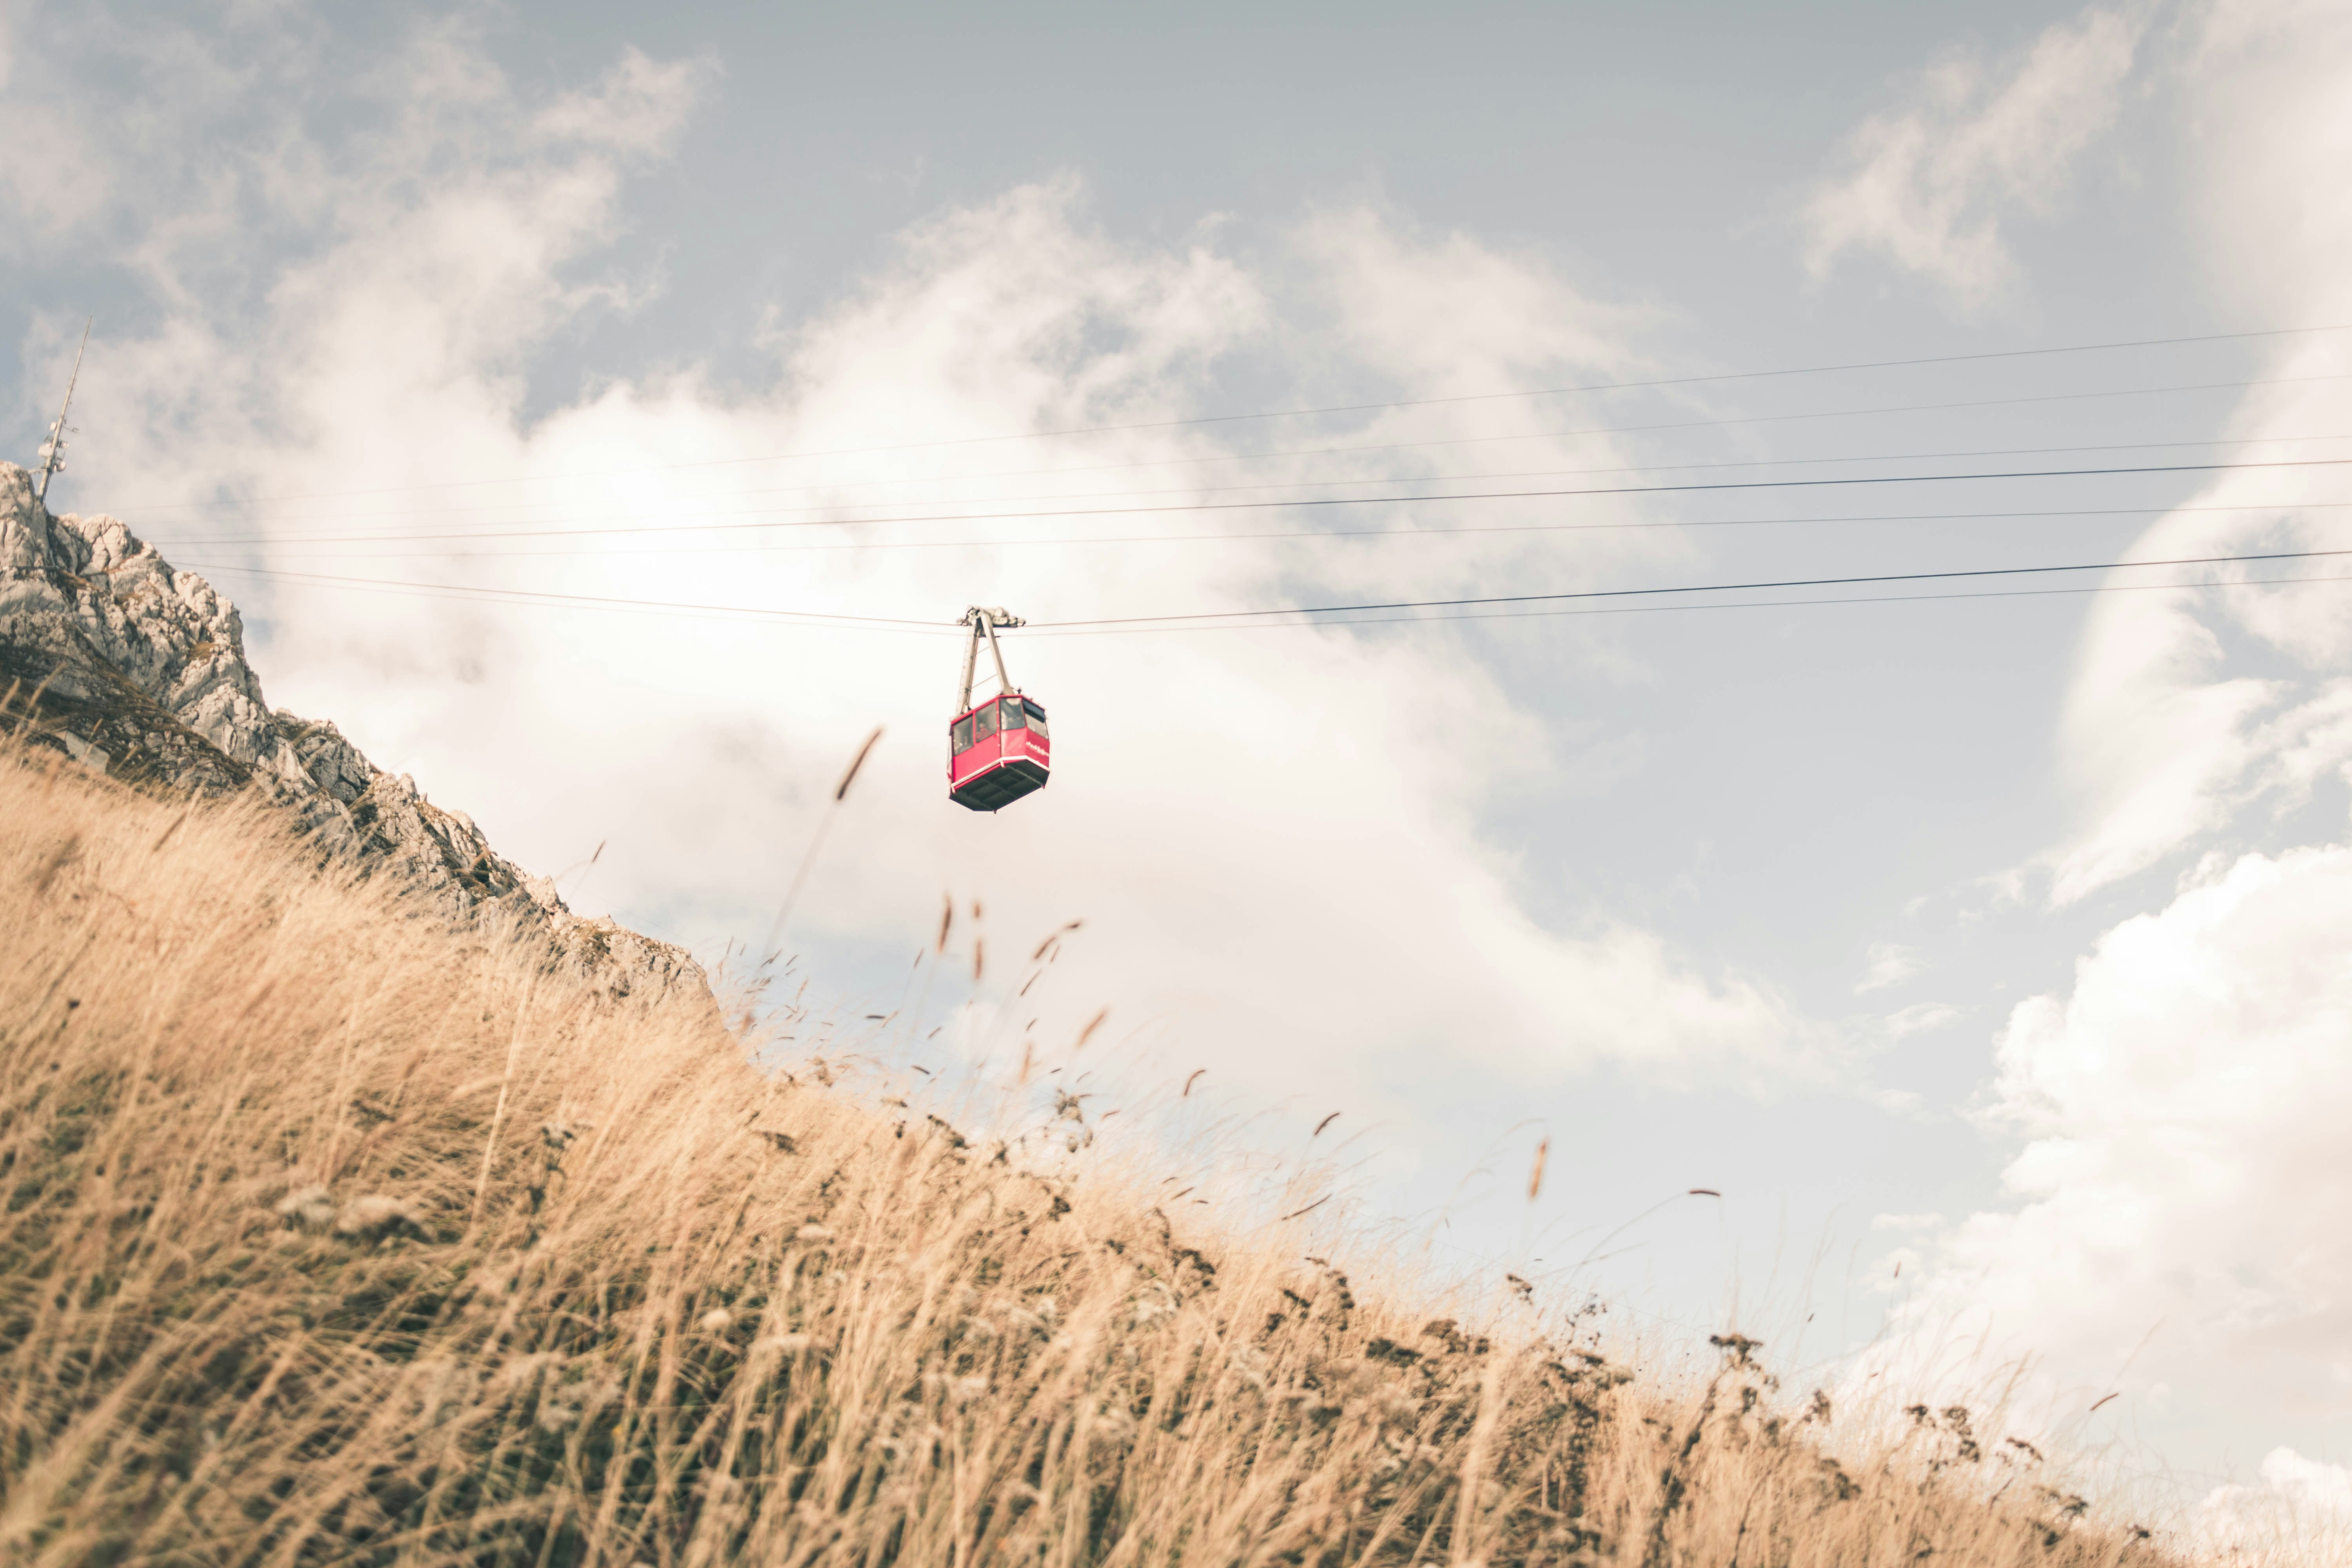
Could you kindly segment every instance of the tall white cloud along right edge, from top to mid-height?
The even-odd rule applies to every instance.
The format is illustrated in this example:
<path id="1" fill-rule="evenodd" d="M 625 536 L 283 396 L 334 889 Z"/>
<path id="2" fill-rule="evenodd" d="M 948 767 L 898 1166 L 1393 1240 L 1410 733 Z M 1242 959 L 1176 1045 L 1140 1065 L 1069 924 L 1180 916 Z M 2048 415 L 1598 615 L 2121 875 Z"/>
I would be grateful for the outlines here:
<path id="1" fill-rule="evenodd" d="M 2180 73 L 2197 139 L 2192 221 L 2232 303 L 2265 322 L 2352 320 L 2352 19 L 2340 7 L 2225 5 L 2199 16 Z M 2312 458 L 2310 435 L 2352 421 L 2352 339 L 2277 339 L 2223 435 L 2232 456 Z M 2274 444 L 2272 444 L 2274 440 Z M 2124 557 L 2164 559 L 2345 543 L 2326 468 L 2216 477 Z M 2331 562 L 2230 569 L 2230 578 L 2336 578 Z M 2211 578 L 2216 574 L 2173 574 Z M 2133 583 L 2161 581 L 2131 574 Z M 2079 823 L 2042 856 L 2070 903 L 2211 835 L 2300 806 L 2352 762 L 2352 595 L 2296 590 L 2119 592 L 2089 616 L 2058 752 Z"/>

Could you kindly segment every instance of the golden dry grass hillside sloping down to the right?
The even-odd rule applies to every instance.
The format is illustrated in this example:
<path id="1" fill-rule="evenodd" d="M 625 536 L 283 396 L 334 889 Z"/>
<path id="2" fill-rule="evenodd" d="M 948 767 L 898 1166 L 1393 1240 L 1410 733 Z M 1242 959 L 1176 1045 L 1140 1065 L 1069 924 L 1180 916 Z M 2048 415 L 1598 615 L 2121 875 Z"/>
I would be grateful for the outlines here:
<path id="1" fill-rule="evenodd" d="M 1171 1237 L 235 804 L 0 755 L 0 952 L 7 1563 L 2161 1561 L 1966 1418 Z"/>

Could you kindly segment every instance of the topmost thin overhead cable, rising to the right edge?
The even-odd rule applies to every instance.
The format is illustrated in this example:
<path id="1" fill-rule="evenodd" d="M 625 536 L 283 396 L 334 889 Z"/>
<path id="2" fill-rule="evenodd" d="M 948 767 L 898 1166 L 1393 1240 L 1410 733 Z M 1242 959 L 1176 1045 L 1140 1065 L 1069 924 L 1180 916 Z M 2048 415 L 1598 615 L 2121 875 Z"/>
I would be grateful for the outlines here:
<path id="1" fill-rule="evenodd" d="M 1903 360 L 1856 360 L 1856 362 L 1846 362 L 1846 364 L 1795 364 L 1795 367 L 1780 367 L 1780 369 L 1710 371 L 1710 374 L 1698 374 L 1698 376 L 1656 376 L 1656 378 L 1646 378 L 1646 381 L 1590 381 L 1590 383 L 1583 383 L 1583 386 L 1505 388 L 1505 390 L 1494 390 L 1494 393 L 1456 393 L 1456 395 L 1446 395 L 1446 397 L 1392 397 L 1392 400 L 1385 400 L 1385 402 L 1343 402 L 1343 404 L 1324 404 L 1324 407 L 1312 407 L 1312 409 L 1261 409 L 1261 411 L 1251 411 L 1251 414 L 1195 414 L 1195 416 L 1188 416 L 1188 418 L 1150 418 L 1150 421 L 1131 421 L 1131 423 L 1112 423 L 1112 425 L 1068 425 L 1068 428 L 1061 428 L 1061 430 L 1007 430 L 1002 435 L 960 435 L 960 437 L 929 440 L 929 442 L 891 442 L 891 444 L 880 444 L 880 447 L 837 447 L 837 449 L 826 449 L 826 451 L 774 451 L 774 454 L 764 454 L 764 456 L 739 456 L 739 458 L 689 458 L 689 461 L 677 461 L 677 463 L 642 463 L 642 465 L 635 465 L 635 468 L 616 468 L 616 470 L 607 470 L 607 473 L 609 475 L 626 475 L 626 473 L 673 473 L 673 470 L 684 470 L 684 468 L 727 468 L 727 465 L 741 465 L 741 463 L 779 463 L 779 461 L 818 458 L 818 456 L 877 456 L 877 454 L 889 454 L 889 451 L 936 451 L 936 449 L 946 449 L 946 447 L 978 447 L 978 444 L 988 444 L 988 442 L 1040 442 L 1040 440 L 1063 440 L 1063 437 L 1073 437 L 1073 435 L 1129 435 L 1129 433 L 1138 433 L 1138 430 L 1181 430 L 1181 428 L 1228 425 L 1228 423 L 1244 423 L 1244 421 L 1261 421 L 1261 418 L 1308 418 L 1308 416 L 1322 416 L 1322 414 L 1371 414 L 1371 411 L 1381 411 L 1381 409 L 1430 409 L 1430 407 L 1449 407 L 1449 404 L 1465 404 L 1465 402 L 1498 402 L 1498 400 L 1510 400 L 1510 397 L 1569 397 L 1569 395 L 1585 395 L 1585 393 L 1635 393 L 1635 390 L 1658 390 L 1658 388 L 1672 388 L 1672 386 L 1715 386 L 1715 383 L 1731 383 L 1731 381 L 1769 381 L 1769 378 L 1783 378 L 1783 376 L 1830 376 L 1830 374 L 1867 371 L 1867 369 L 1917 369 L 1917 367 L 1924 367 L 1924 364 L 1983 364 L 1983 362 L 1994 362 L 1994 360 L 2032 360 L 2032 357 L 2049 357 L 2049 355 L 2117 353 L 2117 350 L 2126 350 L 2126 348 L 2180 348 L 2180 346 L 2190 346 L 2190 343 L 2246 343 L 2246 341 L 2258 341 L 2258 339 L 2314 336 L 2314 334 L 2321 334 L 2321 331 L 2352 331 L 2352 324 L 2267 327 L 2267 329 L 2256 329 L 2256 331 L 2206 331 L 2206 334 L 2171 336 L 2171 339 L 2119 339 L 2119 341 L 2107 341 L 2107 343 L 2056 343 L 2056 346 L 2049 346 L 2049 348 L 1997 348 L 1997 350 L 1966 353 L 1966 355 L 1915 355 L 1915 357 L 1903 357 Z M 395 496 L 395 494 L 426 491 L 426 489 L 466 489 L 466 487 L 475 487 L 475 484 L 515 484 L 515 482 L 532 480 L 532 477 L 543 477 L 543 475 L 501 475 L 501 477 L 494 477 L 494 480 L 433 480 L 433 482 L 423 482 L 423 484 L 383 484 L 383 487 L 374 487 L 374 489 L 350 489 L 350 491 L 310 491 L 310 494 L 294 494 L 294 496 L 254 496 L 252 501 L 259 503 L 259 501 L 322 501 L 322 498 L 334 498 L 334 496 Z M 553 477 L 586 477 L 586 475 L 553 475 Z"/>

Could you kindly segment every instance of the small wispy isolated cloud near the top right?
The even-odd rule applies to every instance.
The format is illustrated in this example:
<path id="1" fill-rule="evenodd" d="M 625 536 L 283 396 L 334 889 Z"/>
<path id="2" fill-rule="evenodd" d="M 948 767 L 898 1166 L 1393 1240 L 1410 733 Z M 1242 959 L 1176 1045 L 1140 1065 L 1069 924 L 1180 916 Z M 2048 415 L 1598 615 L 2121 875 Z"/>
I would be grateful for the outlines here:
<path id="1" fill-rule="evenodd" d="M 1813 275 L 1863 252 L 1964 301 L 1994 294 L 2016 273 L 2004 216 L 2056 205 L 2114 122 L 2138 38 L 2136 19 L 2091 9 L 2044 31 L 2006 75 L 1976 56 L 1922 73 L 1915 101 L 1865 120 L 1806 202 Z"/>

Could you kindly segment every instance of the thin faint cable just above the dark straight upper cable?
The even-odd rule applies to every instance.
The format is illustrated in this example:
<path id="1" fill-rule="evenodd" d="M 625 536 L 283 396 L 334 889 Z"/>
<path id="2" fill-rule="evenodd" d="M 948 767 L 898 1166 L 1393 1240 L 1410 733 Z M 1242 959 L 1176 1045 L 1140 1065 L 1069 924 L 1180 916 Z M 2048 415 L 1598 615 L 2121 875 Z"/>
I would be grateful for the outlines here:
<path id="1" fill-rule="evenodd" d="M 2352 378 L 2352 376 L 2347 376 Z M 1959 451 L 1865 451 L 1865 454 L 1832 454 L 1832 456 L 1771 456 L 1771 458 L 1712 458 L 1705 463 L 1611 463 L 1606 468 L 1510 468 L 1501 473 L 1442 473 L 1442 475 L 1369 475 L 1362 480 L 1251 480 L 1249 484 L 1167 484 L 1160 489 L 1103 489 L 1103 491 L 1047 491 L 1033 496 L 978 496 L 974 501 L 953 498 L 955 505 L 993 505 L 993 508 L 1018 508 L 1028 501 L 1131 501 L 1145 496 L 1221 496 L 1228 491 L 1270 491 L 1270 489 L 1336 489 L 1343 484 L 1472 484 L 1486 480 L 1571 480 L 1590 475 L 1613 475 L 1613 473 L 1712 473 L 1722 468 L 1823 468 L 1832 463 L 1933 463 L 1945 458 L 2020 458 L 2020 456 L 2058 456 L 2070 451 L 2178 451 L 2183 447 L 2296 447 L 2310 442 L 2352 442 L 2352 435 L 2234 435 L 2234 437 L 2192 437 L 2178 442 L 2089 442 L 2072 447 L 1969 447 Z M 814 489 L 814 487 L 811 487 Z M 750 494 L 750 491 L 746 491 Z M 713 496 L 713 501 L 739 501 L 741 496 Z M 1345 498 L 1345 496 L 1341 496 Z M 576 510 L 560 501 L 529 501 L 513 505 L 536 505 L 546 510 L 560 510 L 583 522 L 626 522 L 630 517 L 642 517 L 642 512 L 602 512 L 581 517 Z M 376 515 L 353 515 L 353 517 L 315 517 L 320 524 L 355 522 L 372 524 L 393 517 L 459 517 L 480 510 L 513 510 L 513 505 L 499 508 L 449 508 L 449 510 L 423 510 L 423 512 L 376 512 Z M 854 527 L 861 522 L 906 522 L 903 517 L 842 517 L 840 512 L 849 508 L 906 508 L 906 505 L 943 505 L 941 501 L 835 501 L 828 505 L 762 505 L 762 508 L 734 508 L 734 510 L 706 510 L 691 512 L 708 520 L 734 520 L 734 517 L 797 517 L 804 512 L 826 512 L 816 520 L 821 527 Z M 1000 510 L 1000 512 L 976 512 L 978 517 L 1025 517 L 1023 510 Z M 172 527 L 172 524 L 148 524 L 143 527 Z M 270 522 L 270 520 L 261 520 Z M 292 522 L 292 520 L 280 520 Z M 529 522 L 529 520 L 517 520 Z M 247 524 L 254 527 L 254 524 Z M 703 527 L 699 522 L 675 522 L 670 515 L 666 529 L 689 529 Z M 776 524 L 788 527 L 788 524 Z M 468 536 L 487 534 L 468 529 Z M 247 534 L 247 536 L 207 536 L 207 534 L 181 534 L 188 543 L 254 543 L 254 541 L 285 541 L 285 543 L 336 543 L 346 538 L 360 541 L 395 541 L 409 538 L 407 534 Z M 430 534 L 428 538 L 442 538 L 442 534 Z"/>

